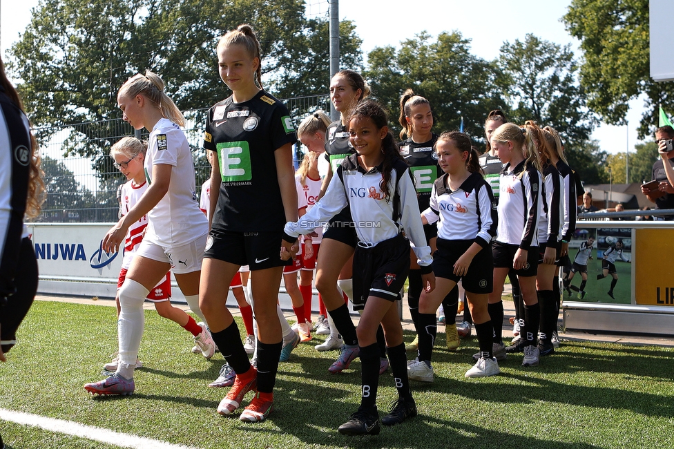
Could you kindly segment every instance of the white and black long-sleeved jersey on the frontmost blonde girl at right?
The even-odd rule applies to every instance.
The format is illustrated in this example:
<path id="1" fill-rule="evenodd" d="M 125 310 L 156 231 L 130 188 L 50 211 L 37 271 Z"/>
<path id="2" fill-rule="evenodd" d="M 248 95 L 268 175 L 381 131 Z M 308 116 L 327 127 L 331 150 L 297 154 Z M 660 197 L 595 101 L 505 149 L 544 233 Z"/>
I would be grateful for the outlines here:
<path id="1" fill-rule="evenodd" d="M 538 247 L 541 173 L 526 161 L 514 168 L 506 164 L 501 171 L 499 191 L 497 240 L 526 250 Z"/>

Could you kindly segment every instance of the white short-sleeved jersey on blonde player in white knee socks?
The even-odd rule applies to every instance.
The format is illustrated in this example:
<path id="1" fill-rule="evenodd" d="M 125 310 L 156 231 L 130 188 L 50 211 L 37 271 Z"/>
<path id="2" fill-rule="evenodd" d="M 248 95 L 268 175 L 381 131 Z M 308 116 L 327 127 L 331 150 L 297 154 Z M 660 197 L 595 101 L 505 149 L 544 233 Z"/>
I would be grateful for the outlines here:
<path id="1" fill-rule="evenodd" d="M 209 223 L 197 201 L 192 153 L 180 127 L 168 119 L 157 122 L 150 133 L 145 155 L 149 185 L 155 164 L 171 165 L 171 182 L 164 198 L 148 212 L 146 240 L 170 248 L 206 235 Z"/>

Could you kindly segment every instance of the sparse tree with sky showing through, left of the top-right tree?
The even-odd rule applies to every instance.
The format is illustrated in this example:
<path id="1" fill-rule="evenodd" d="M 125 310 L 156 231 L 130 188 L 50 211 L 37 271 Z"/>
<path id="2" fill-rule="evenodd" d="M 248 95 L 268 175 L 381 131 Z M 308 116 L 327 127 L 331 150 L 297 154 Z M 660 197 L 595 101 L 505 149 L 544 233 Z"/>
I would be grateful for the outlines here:
<path id="1" fill-rule="evenodd" d="M 503 91 L 513 105 L 510 119 L 552 126 L 568 152 L 578 151 L 597 120 L 586 107 L 570 45 L 562 47 L 528 34 L 523 42 L 505 42 L 498 64 L 504 75 Z"/>

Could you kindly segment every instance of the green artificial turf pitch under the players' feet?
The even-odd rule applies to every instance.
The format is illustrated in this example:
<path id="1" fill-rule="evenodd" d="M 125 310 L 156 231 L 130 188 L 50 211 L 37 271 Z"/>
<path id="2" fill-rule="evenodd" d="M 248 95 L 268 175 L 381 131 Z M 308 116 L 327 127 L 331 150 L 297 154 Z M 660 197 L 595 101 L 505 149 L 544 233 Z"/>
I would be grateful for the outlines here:
<path id="1" fill-rule="evenodd" d="M 378 437 L 345 437 L 336 429 L 360 402 L 360 362 L 329 374 L 337 352 L 314 350 L 322 336 L 280 363 L 275 411 L 251 424 L 238 412 L 215 412 L 227 389 L 206 385 L 218 376 L 222 355 L 206 361 L 191 354 L 191 335 L 154 311 L 146 312 L 145 366 L 135 373 L 135 393 L 92 397 L 82 385 L 102 379 L 102 365 L 117 348 L 115 322 L 112 308 L 36 302 L 19 329 L 20 344 L 0 364 L 0 408 L 204 449 L 674 447 L 668 348 L 563 341 L 539 367 L 522 367 L 515 354 L 500 363 L 499 376 L 465 379 L 476 338 L 448 352 L 439 325 L 435 382 L 411 381 L 418 417 L 382 428 Z M 389 371 L 380 379 L 381 414 L 394 399 Z M 2 420 L 0 432 L 8 448 L 115 447 Z"/>

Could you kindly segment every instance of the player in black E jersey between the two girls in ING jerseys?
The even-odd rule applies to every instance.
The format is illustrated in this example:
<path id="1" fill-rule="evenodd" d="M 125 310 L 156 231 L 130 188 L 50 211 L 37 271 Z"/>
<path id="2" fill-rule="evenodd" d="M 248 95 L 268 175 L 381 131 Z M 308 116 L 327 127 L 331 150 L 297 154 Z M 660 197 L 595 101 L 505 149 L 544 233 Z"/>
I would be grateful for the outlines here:
<path id="1" fill-rule="evenodd" d="M 419 210 L 423 211 L 428 207 L 433 182 L 443 174 L 438 165 L 437 153 L 433 146 L 438 140 L 438 135 L 432 132 L 433 112 L 430 103 L 424 97 L 414 95 L 412 89 L 405 90 L 400 100 L 401 113 L 398 122 L 403 126 L 400 137 L 407 140 L 398 143 L 398 149 L 401 156 L 410 166 L 410 172 L 414 176 L 414 187 L 416 187 Z M 438 236 L 436 225 L 424 225 L 423 231 L 426 236 L 426 243 L 430 245 L 432 251 L 435 251 L 435 241 Z M 407 351 L 418 350 L 418 339 L 421 327 L 418 327 L 419 314 L 419 295 L 423 286 L 421 285 L 421 269 L 416 263 L 415 258 L 410 258 L 410 275 L 407 276 L 409 287 L 407 288 L 407 306 L 410 307 L 410 315 L 416 329 L 414 341 L 405 346 Z M 447 349 L 456 350 L 459 347 L 459 334 L 456 332 L 456 310 L 459 307 L 459 288 L 452 289 L 443 300 L 445 308 L 445 334 L 447 336 Z"/>

